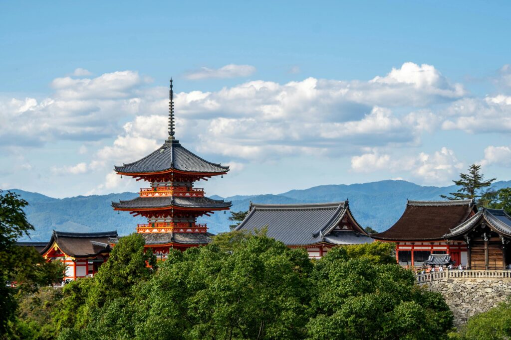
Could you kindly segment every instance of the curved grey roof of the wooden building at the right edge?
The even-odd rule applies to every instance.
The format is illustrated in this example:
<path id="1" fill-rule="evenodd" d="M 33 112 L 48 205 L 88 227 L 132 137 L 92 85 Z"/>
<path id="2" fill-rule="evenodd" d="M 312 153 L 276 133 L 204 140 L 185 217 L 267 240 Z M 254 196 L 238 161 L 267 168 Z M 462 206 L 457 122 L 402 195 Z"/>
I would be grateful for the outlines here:
<path id="1" fill-rule="evenodd" d="M 449 230 L 449 232 L 444 235 L 444 238 L 455 238 L 467 233 L 476 226 L 481 219 L 484 219 L 497 232 L 511 237 L 511 216 L 507 215 L 502 209 L 481 208 L 481 210 L 470 219 Z"/>

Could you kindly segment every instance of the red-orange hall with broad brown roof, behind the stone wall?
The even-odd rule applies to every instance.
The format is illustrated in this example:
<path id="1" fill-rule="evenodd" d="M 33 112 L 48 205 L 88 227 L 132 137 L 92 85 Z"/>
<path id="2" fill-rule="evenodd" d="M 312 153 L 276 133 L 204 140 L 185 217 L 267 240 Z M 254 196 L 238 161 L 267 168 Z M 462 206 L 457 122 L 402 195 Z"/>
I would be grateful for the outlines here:
<path id="1" fill-rule="evenodd" d="M 456 201 L 410 201 L 401 218 L 389 229 L 371 234 L 396 243 L 396 260 L 403 266 L 421 266 L 431 254 L 450 255 L 457 266 L 467 263 L 467 245 L 448 241 L 445 234 L 477 213 L 473 199 Z"/>

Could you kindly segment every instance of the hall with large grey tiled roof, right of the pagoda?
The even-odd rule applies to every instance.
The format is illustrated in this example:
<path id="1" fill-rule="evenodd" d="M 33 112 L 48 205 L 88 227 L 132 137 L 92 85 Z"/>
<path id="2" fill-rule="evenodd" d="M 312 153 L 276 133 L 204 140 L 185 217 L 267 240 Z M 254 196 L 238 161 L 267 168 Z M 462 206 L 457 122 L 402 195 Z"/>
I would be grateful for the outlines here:
<path id="1" fill-rule="evenodd" d="M 312 204 L 254 204 L 236 230 L 267 227 L 267 236 L 288 247 L 306 248 L 320 258 L 337 245 L 371 243 L 350 211 L 348 201 Z"/>

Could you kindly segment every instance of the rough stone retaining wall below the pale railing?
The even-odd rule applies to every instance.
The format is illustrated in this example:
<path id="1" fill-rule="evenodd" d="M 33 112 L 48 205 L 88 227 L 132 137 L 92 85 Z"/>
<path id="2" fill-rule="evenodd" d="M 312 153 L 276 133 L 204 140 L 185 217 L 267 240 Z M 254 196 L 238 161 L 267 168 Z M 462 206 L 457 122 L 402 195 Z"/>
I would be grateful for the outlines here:
<path id="1" fill-rule="evenodd" d="M 511 295 L 511 279 L 445 278 L 423 283 L 427 289 L 442 293 L 454 314 L 454 324 L 462 325 L 483 311 L 497 306 Z"/>

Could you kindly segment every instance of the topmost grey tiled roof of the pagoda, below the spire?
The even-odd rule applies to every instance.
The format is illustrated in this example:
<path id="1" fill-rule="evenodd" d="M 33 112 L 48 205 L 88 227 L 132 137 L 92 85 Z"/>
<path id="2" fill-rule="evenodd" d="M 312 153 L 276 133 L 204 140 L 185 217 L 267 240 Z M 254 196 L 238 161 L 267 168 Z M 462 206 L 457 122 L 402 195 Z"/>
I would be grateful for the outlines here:
<path id="1" fill-rule="evenodd" d="M 225 173 L 229 167 L 208 162 L 185 149 L 177 140 L 167 140 L 159 149 L 133 163 L 116 166 L 115 171 L 123 173 L 160 172 L 180 170 L 202 173 Z"/>

